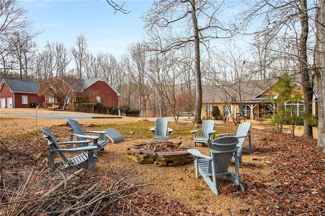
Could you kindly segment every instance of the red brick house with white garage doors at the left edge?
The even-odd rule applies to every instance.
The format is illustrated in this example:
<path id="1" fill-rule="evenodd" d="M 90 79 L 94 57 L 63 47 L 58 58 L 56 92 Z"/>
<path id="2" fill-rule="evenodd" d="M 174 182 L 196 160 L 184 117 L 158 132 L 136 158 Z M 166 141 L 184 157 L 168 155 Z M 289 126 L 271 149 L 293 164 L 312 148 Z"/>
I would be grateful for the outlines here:
<path id="1" fill-rule="evenodd" d="M 3 79 L 0 83 L 1 108 L 29 108 L 30 103 L 42 104 L 44 97 L 37 95 L 39 82 Z"/>

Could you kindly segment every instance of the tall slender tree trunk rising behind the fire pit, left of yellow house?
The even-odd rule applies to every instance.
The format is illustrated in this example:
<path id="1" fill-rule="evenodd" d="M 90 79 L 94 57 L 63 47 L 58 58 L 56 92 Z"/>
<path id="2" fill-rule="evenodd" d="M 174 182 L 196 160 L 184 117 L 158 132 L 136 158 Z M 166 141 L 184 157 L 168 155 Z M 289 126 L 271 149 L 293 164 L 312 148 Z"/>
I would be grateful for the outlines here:
<path id="1" fill-rule="evenodd" d="M 196 104 L 194 113 L 194 123 L 201 124 L 201 109 L 202 109 L 202 85 L 201 85 L 201 68 L 200 68 L 200 40 L 198 20 L 196 16 L 196 1 L 191 1 L 191 17 L 194 33 L 194 75 L 196 88 Z"/>

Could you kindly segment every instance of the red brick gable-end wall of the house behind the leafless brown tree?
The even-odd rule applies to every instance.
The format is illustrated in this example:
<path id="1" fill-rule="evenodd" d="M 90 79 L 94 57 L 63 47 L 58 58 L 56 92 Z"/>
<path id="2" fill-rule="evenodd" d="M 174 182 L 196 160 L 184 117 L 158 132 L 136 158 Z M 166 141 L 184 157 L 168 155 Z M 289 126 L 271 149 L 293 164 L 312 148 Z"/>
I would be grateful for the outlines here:
<path id="1" fill-rule="evenodd" d="M 118 106 L 118 96 L 116 92 L 104 81 L 98 81 L 89 86 L 77 100 L 89 100 L 87 95 L 92 94 L 91 92 L 96 92 L 96 96 L 101 96 L 101 102 L 104 103 L 105 106 Z"/>

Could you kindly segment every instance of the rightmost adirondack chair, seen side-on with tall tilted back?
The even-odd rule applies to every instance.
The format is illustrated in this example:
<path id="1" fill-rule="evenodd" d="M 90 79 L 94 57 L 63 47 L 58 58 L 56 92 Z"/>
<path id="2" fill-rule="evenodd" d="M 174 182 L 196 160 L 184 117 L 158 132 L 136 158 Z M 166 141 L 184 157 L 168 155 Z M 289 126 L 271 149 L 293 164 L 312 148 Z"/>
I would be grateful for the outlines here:
<path id="1" fill-rule="evenodd" d="M 223 136 L 236 136 L 238 138 L 238 157 L 239 161 L 241 163 L 242 161 L 242 153 L 252 153 L 254 150 L 252 149 L 252 142 L 250 138 L 250 122 L 243 122 L 238 125 L 238 129 L 236 133 L 222 133 L 222 134 L 216 134 L 216 136 L 223 137 Z M 243 143 L 245 141 L 245 138 L 248 137 L 248 148 L 243 147 Z"/>

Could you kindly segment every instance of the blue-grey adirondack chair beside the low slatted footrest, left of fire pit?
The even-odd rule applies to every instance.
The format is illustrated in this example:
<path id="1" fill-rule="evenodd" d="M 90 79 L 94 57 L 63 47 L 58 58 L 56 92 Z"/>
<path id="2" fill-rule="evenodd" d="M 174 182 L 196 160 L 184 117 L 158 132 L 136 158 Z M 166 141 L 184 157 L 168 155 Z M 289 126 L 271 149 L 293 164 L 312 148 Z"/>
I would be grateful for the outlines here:
<path id="1" fill-rule="evenodd" d="M 73 140 L 73 136 L 76 136 L 78 140 L 86 140 L 86 139 L 92 139 L 93 143 L 92 145 L 97 146 L 98 149 L 104 150 L 104 148 L 107 146 L 107 141 L 105 140 L 104 134 L 105 131 L 102 130 L 82 130 L 80 124 L 72 119 L 68 119 L 68 124 L 71 127 L 71 133 L 70 133 L 70 140 Z M 86 135 L 84 133 L 97 133 L 100 134 L 100 137 L 98 136 L 92 136 L 92 135 Z M 99 138 L 99 139 L 98 139 Z M 95 151 L 95 155 L 97 155 L 97 151 Z"/>

